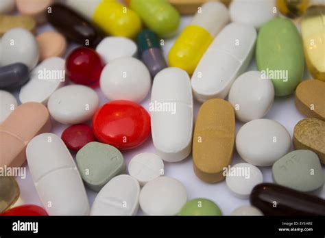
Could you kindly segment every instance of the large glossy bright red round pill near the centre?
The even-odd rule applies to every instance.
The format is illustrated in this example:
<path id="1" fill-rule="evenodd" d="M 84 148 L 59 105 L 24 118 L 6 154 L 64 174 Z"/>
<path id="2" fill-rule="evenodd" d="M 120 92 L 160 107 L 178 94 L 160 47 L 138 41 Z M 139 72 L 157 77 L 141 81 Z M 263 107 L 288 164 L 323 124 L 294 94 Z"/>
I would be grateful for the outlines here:
<path id="1" fill-rule="evenodd" d="M 121 150 L 140 146 L 151 132 L 150 116 L 141 105 L 131 101 L 110 101 L 93 118 L 97 140 Z"/>

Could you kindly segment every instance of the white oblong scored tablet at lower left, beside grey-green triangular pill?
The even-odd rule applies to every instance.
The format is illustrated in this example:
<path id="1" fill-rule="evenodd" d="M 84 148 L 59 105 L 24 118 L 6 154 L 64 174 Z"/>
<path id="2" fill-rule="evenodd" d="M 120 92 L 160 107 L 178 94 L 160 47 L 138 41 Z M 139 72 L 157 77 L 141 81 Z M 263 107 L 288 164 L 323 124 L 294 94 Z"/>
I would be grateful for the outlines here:
<path id="1" fill-rule="evenodd" d="M 26 148 L 29 171 L 49 215 L 89 215 L 82 178 L 64 142 L 53 133 L 34 137 Z"/>

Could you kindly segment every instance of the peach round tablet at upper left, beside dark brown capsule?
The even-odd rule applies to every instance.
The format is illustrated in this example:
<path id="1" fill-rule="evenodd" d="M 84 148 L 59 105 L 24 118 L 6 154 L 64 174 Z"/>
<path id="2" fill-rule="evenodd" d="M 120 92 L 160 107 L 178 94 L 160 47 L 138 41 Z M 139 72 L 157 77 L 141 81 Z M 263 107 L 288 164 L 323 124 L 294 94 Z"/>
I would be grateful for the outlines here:
<path id="1" fill-rule="evenodd" d="M 40 49 L 40 61 L 49 57 L 61 57 L 67 49 L 67 41 L 56 31 L 47 31 L 36 37 Z"/>

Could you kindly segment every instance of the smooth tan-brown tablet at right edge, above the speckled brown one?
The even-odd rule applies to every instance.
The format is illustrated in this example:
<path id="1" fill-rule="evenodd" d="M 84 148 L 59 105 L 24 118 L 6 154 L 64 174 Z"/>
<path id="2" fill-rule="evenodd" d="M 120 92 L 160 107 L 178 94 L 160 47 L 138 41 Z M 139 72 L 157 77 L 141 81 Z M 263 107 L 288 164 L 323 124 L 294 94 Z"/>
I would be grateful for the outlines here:
<path id="1" fill-rule="evenodd" d="M 299 83 L 295 103 L 304 116 L 325 120 L 325 82 L 309 79 Z"/>

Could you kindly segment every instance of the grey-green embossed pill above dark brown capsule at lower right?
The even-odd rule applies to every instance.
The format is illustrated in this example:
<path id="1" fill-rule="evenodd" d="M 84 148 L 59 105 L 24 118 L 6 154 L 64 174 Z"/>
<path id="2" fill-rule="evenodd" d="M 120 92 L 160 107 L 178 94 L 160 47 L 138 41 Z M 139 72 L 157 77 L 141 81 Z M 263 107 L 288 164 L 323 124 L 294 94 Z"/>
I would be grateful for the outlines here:
<path id="1" fill-rule="evenodd" d="M 320 159 L 311 150 L 293 150 L 272 167 L 275 183 L 298 191 L 315 191 L 324 185 Z"/>

